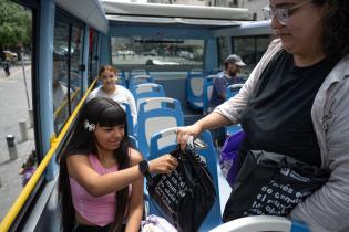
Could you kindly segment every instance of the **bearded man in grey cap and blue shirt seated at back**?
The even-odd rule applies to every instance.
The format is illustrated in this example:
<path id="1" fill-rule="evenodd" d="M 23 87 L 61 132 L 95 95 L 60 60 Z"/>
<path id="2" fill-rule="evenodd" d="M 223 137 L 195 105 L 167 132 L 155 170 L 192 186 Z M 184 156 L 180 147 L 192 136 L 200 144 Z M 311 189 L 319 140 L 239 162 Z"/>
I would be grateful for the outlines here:
<path id="1" fill-rule="evenodd" d="M 214 108 L 226 101 L 226 91 L 229 85 L 242 83 L 242 78 L 237 76 L 240 68 L 246 66 L 242 57 L 232 54 L 224 61 L 225 70 L 217 74 L 214 81 L 209 107 Z"/>

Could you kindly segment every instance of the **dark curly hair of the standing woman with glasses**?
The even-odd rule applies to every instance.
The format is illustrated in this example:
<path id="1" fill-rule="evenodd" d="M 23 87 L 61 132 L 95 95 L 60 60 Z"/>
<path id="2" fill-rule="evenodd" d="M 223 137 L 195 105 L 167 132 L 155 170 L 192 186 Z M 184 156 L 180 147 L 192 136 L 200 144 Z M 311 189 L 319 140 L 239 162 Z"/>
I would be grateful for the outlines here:
<path id="1" fill-rule="evenodd" d="M 349 53 L 349 1 L 312 0 L 317 6 L 328 4 L 329 11 L 324 18 L 325 53 L 330 59 L 341 59 Z"/>

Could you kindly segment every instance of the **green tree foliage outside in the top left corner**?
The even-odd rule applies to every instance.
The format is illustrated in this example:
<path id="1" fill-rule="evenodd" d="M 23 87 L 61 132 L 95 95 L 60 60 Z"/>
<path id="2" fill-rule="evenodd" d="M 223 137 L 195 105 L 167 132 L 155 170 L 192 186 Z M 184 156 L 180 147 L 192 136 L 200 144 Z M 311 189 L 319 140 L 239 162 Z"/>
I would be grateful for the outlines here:
<path id="1" fill-rule="evenodd" d="M 9 0 L 0 0 L 0 46 L 29 44 L 31 12 Z"/>

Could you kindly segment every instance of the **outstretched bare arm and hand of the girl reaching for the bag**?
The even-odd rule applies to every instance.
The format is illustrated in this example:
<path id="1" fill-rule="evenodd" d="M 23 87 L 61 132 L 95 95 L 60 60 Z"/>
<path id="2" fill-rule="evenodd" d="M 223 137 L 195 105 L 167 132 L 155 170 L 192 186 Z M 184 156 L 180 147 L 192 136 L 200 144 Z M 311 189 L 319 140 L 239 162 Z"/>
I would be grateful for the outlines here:
<path id="1" fill-rule="evenodd" d="M 133 150 L 132 152 L 142 155 Z M 151 172 L 168 173 L 175 169 L 177 161 L 171 156 L 165 155 L 148 162 Z M 124 170 L 106 175 L 97 173 L 90 165 L 86 155 L 71 155 L 66 158 L 68 172 L 71 178 L 79 182 L 91 196 L 105 196 L 143 179 L 138 166 L 133 166 Z M 143 190 L 142 190 L 143 191 Z"/>

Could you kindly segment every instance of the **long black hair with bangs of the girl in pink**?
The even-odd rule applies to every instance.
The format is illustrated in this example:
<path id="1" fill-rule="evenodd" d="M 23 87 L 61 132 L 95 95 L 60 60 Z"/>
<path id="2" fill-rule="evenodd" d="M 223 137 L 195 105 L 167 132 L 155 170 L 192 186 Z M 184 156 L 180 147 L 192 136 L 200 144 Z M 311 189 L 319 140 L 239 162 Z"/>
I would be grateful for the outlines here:
<path id="1" fill-rule="evenodd" d="M 120 147 L 114 151 L 114 158 L 119 165 L 119 170 L 130 167 L 129 147 L 130 140 L 127 136 L 126 113 L 113 99 L 95 97 L 85 103 L 79 113 L 79 116 L 71 128 L 71 135 L 63 144 L 63 152 L 57 157 L 57 162 L 60 164 L 59 175 L 59 202 L 62 215 L 63 232 L 71 232 L 75 225 L 75 210 L 72 202 L 71 187 L 66 167 L 66 157 L 80 154 L 97 154 L 96 144 L 93 137 L 93 131 L 89 131 L 84 124 L 100 126 L 117 126 L 125 125 L 125 136 Z M 122 228 L 125 211 L 129 204 L 129 187 L 119 190 L 115 194 L 116 212 L 112 223 L 112 231 L 119 232 Z"/>

